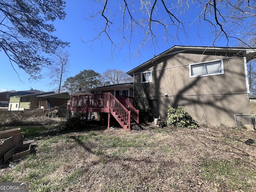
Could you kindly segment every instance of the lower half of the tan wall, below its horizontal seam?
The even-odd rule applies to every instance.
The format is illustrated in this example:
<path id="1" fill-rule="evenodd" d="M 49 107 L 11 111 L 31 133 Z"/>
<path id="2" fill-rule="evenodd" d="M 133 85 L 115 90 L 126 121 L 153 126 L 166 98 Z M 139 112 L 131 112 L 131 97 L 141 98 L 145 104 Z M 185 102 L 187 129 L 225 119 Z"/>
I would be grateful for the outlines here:
<path id="1" fill-rule="evenodd" d="M 168 96 L 150 97 L 150 99 L 158 99 L 158 110 L 152 110 L 152 115 L 160 114 L 162 118 L 166 118 L 168 106 L 186 106 L 187 112 L 198 123 L 206 122 L 212 126 L 220 124 L 235 126 L 235 114 L 250 114 L 248 94 Z M 141 104 L 144 100 L 139 98 L 138 102 Z"/>

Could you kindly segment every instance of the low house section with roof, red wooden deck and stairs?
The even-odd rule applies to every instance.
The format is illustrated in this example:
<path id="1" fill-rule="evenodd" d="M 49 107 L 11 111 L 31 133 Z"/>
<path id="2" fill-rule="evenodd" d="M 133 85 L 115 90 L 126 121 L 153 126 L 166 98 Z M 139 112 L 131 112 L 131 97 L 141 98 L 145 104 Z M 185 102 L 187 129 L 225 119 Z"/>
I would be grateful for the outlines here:
<path id="1" fill-rule="evenodd" d="M 139 123 L 139 111 L 134 108 L 133 83 L 115 84 L 88 89 L 86 92 L 70 94 L 70 111 L 86 112 L 89 119 L 108 122 L 110 116 L 125 130 L 130 129 L 131 120 Z M 90 114 L 89 114 L 90 113 Z M 86 118 L 86 120 L 88 119 Z"/>

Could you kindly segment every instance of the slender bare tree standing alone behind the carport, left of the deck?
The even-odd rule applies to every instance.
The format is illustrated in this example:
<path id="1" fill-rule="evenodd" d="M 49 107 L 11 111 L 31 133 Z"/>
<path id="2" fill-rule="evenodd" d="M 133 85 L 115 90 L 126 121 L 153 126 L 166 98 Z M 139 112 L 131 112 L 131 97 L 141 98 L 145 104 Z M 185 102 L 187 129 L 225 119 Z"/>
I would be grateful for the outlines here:
<path id="1" fill-rule="evenodd" d="M 50 85 L 55 87 L 59 93 L 64 82 L 66 73 L 69 67 L 70 54 L 67 50 L 58 49 L 56 54 L 52 58 L 52 65 L 50 66 L 49 78 L 51 80 Z"/>

